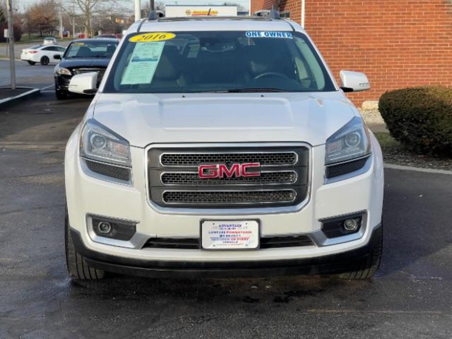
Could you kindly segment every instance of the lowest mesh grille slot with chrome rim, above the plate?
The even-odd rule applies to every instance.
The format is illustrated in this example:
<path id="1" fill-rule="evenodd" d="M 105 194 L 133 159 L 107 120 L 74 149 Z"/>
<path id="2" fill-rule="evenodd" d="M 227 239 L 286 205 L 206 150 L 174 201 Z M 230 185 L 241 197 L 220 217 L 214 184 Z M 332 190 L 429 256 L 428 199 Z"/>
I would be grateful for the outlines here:
<path id="1" fill-rule="evenodd" d="M 168 191 L 163 193 L 163 201 L 177 204 L 234 204 L 292 202 L 297 194 L 293 190 L 275 191 Z"/>

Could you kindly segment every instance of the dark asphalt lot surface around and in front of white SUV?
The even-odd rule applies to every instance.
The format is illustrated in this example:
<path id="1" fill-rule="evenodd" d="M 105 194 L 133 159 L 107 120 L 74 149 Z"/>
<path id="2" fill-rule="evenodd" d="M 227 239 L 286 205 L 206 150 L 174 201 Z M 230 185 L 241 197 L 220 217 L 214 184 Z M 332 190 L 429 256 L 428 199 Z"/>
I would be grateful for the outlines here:
<path id="1" fill-rule="evenodd" d="M 451 338 L 447 174 L 385 171 L 385 247 L 371 282 L 72 282 L 62 149 L 88 104 L 45 93 L 0 113 L 0 338 Z"/>

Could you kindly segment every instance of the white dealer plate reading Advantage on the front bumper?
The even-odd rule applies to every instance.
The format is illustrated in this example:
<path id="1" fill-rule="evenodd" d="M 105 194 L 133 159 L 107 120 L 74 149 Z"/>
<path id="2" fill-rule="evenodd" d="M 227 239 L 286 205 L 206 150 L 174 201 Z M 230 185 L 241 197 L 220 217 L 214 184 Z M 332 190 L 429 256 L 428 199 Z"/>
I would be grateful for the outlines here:
<path id="1" fill-rule="evenodd" d="M 259 222 L 202 221 L 203 250 L 253 250 L 259 248 Z"/>

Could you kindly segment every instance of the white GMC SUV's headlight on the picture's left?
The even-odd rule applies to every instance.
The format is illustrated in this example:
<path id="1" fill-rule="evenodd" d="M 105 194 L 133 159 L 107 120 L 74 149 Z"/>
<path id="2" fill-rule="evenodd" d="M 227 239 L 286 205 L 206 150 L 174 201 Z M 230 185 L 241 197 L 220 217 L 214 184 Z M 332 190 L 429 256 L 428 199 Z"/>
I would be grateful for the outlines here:
<path id="1" fill-rule="evenodd" d="M 89 119 L 80 137 L 80 155 L 114 165 L 131 166 L 129 142 L 94 119 Z"/>

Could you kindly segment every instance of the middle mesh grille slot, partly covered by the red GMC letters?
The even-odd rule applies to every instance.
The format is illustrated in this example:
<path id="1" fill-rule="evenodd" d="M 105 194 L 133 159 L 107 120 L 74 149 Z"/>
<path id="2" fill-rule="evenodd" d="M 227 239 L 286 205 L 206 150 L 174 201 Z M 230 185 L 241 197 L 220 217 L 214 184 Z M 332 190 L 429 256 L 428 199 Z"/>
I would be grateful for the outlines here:
<path id="1" fill-rule="evenodd" d="M 165 185 L 247 185 L 247 184 L 294 184 L 297 181 L 295 171 L 262 172 L 259 177 L 239 178 L 199 178 L 198 173 L 168 172 L 162 174 Z"/>

